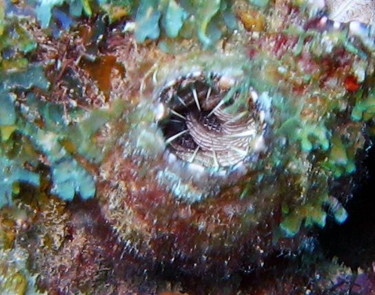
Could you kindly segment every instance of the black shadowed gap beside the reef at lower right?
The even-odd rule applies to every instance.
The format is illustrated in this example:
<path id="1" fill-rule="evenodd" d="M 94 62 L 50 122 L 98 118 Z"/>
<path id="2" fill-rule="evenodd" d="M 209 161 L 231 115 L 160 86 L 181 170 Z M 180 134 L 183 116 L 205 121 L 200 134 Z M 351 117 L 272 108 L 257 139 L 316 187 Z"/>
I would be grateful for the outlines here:
<path id="1" fill-rule="evenodd" d="M 358 185 L 345 206 L 347 221 L 338 225 L 331 220 L 318 237 L 329 258 L 336 256 L 353 269 L 369 267 L 375 261 L 375 147 L 359 166 L 358 179 L 354 179 Z"/>

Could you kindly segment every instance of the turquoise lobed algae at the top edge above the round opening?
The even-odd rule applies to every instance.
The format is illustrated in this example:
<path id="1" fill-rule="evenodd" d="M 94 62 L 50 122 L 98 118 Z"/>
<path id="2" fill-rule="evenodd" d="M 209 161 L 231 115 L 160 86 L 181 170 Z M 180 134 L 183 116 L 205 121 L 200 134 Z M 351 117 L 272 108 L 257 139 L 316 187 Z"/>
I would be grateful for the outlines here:
<path id="1" fill-rule="evenodd" d="M 136 10 L 134 36 L 139 42 L 158 39 L 161 29 L 170 38 L 199 38 L 207 48 L 221 38 L 225 28 L 233 29 L 230 1 L 141 0 Z"/>

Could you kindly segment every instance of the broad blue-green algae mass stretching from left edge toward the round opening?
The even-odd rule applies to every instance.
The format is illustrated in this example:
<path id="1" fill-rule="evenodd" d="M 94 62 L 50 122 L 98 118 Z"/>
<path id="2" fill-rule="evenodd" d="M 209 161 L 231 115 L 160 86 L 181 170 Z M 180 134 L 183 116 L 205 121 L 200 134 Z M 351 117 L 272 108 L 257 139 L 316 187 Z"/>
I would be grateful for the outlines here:
<path id="1" fill-rule="evenodd" d="M 76 193 L 83 199 L 91 198 L 95 194 L 94 177 L 75 156 L 83 154 L 93 163 L 101 160 L 101 152 L 92 141 L 92 136 L 109 119 L 121 114 L 121 105 L 118 104 L 112 112 L 95 110 L 88 115 L 85 112 L 72 111 L 72 116 L 85 116 L 78 124 L 65 122 L 61 105 L 40 101 L 32 93 L 26 96 L 21 109 L 16 107 L 16 90 L 48 90 L 49 85 L 44 77 L 43 67 L 39 64 L 30 64 L 26 70 L 9 74 L 2 72 L 0 76 L 1 206 L 12 203 L 12 196 L 17 194 L 17 191 L 14 191 L 14 185 L 17 183 L 29 183 L 34 186 L 40 184 L 37 171 L 39 162 L 32 159 L 35 154 L 43 154 L 48 159 L 52 176 L 52 194 L 57 194 L 66 201 L 72 200 Z M 43 128 L 38 123 L 40 120 L 43 121 Z M 19 136 L 23 139 L 19 139 Z M 73 143 L 76 151 L 73 150 L 73 154 L 68 151 L 62 144 L 63 141 Z M 23 145 L 19 152 L 12 152 L 19 143 Z M 25 167 L 26 163 L 32 163 L 31 170 Z"/>

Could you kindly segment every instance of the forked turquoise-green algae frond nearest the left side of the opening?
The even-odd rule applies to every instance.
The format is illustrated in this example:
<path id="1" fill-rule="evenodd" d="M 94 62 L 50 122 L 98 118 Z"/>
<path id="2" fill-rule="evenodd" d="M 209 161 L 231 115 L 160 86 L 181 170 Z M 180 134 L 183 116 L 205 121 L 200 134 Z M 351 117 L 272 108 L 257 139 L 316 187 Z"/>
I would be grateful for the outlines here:
<path id="1" fill-rule="evenodd" d="M 40 105 L 41 114 L 50 104 Z M 50 109 L 50 108 L 48 108 Z M 94 177 L 74 159 L 74 154 L 65 148 L 62 141 L 70 141 L 77 148 L 77 153 L 85 156 L 92 163 L 101 161 L 101 152 L 92 141 L 92 135 L 111 119 L 112 114 L 118 114 L 121 108 L 116 108 L 113 113 L 96 110 L 77 125 L 63 125 L 62 113 L 54 117 L 53 124 L 45 125 L 45 130 L 37 128 L 34 124 L 26 123 L 23 134 L 28 136 L 39 152 L 42 152 L 50 161 L 52 174 L 52 194 L 57 194 L 61 199 L 70 201 L 74 194 L 79 194 L 83 199 L 89 199 L 95 194 Z M 62 112 L 62 110 L 60 110 Z M 48 114 L 51 114 L 48 112 Z M 57 123 L 59 126 L 56 128 Z"/>

